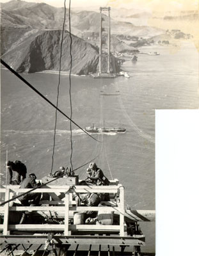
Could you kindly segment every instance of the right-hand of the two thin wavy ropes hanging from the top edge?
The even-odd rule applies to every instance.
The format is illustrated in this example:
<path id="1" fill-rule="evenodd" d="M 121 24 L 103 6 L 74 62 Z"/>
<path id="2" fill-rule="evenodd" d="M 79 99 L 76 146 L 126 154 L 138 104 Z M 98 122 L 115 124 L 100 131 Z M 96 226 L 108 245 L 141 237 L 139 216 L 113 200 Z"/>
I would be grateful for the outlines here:
<path id="1" fill-rule="evenodd" d="M 68 20 L 69 20 L 69 34 L 70 34 L 70 72 L 69 72 L 69 95 L 70 95 L 70 164 L 71 169 L 73 171 L 72 166 L 72 99 L 71 99 L 71 72 L 72 72 L 72 36 L 71 36 L 71 26 L 70 26 L 70 1 L 69 1 L 69 9 L 68 9 Z"/>

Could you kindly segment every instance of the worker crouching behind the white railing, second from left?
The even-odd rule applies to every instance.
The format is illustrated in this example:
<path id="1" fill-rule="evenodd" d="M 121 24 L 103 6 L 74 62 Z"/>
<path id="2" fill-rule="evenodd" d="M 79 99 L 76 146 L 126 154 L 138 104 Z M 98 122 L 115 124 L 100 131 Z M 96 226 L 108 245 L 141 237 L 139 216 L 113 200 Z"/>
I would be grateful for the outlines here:
<path id="1" fill-rule="evenodd" d="M 20 188 L 37 188 L 40 185 L 40 182 L 36 183 L 35 173 L 31 173 L 28 175 L 28 178 L 22 180 Z M 41 193 L 28 193 L 19 197 L 19 201 L 24 206 L 36 206 L 39 205 L 41 195 Z"/>

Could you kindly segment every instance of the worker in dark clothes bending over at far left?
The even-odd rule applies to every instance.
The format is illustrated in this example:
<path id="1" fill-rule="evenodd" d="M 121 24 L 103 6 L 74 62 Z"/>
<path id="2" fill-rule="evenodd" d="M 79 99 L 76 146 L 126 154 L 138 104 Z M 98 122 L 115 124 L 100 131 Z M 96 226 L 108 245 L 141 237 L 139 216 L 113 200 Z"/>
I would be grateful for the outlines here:
<path id="1" fill-rule="evenodd" d="M 16 173 L 16 182 L 19 185 L 21 178 L 22 180 L 24 180 L 26 178 L 26 173 L 27 173 L 27 169 L 26 169 L 26 165 L 23 164 L 21 161 L 8 161 L 6 163 L 6 168 L 8 168 L 9 171 L 9 183 L 12 184 L 12 177 L 13 177 L 13 172 L 17 172 Z"/>

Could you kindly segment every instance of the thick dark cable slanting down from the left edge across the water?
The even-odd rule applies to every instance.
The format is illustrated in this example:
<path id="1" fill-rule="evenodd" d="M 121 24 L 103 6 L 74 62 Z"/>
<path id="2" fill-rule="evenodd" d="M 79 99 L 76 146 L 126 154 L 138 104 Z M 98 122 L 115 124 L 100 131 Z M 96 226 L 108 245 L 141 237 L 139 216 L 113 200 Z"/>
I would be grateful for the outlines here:
<path id="1" fill-rule="evenodd" d="M 1 59 L 1 64 L 4 65 L 4 67 L 8 68 L 8 70 L 10 70 L 13 74 L 15 74 L 15 76 L 17 76 L 21 81 L 23 81 L 26 85 L 29 86 L 29 88 L 31 88 L 34 92 L 36 92 L 38 95 L 40 95 L 40 97 L 42 97 L 45 101 L 47 101 L 53 108 L 58 109 L 58 111 L 65 116 L 66 118 L 68 118 L 68 120 L 71 120 L 71 122 L 73 124 L 75 124 L 79 129 L 81 129 L 84 133 L 86 133 L 88 136 L 90 136 L 93 140 L 97 141 L 97 142 L 101 142 L 96 140 L 92 135 L 90 135 L 88 132 L 86 132 L 83 128 L 81 128 L 76 122 L 74 122 L 72 119 L 70 119 L 69 116 L 67 116 L 65 113 L 63 113 L 63 111 L 61 111 L 61 109 L 57 108 L 49 99 L 47 99 L 42 93 L 40 93 L 38 90 L 36 90 L 36 88 L 34 86 L 32 86 L 28 81 L 26 81 L 26 79 L 24 79 L 24 77 L 20 76 L 20 74 L 18 74 L 15 70 L 13 70 L 7 63 L 5 63 L 2 59 Z"/>

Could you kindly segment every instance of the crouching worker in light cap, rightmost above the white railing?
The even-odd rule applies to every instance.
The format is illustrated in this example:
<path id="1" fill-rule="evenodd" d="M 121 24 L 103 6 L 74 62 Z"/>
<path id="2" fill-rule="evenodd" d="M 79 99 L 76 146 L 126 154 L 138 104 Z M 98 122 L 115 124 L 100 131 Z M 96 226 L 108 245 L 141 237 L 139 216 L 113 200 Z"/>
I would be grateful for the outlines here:
<path id="1" fill-rule="evenodd" d="M 106 176 L 104 176 L 102 170 L 97 167 L 96 163 L 90 163 L 89 168 L 92 170 L 92 175 L 88 176 L 87 178 L 92 180 L 93 184 L 97 184 L 98 186 L 110 184 L 109 180 L 106 178 Z"/>

